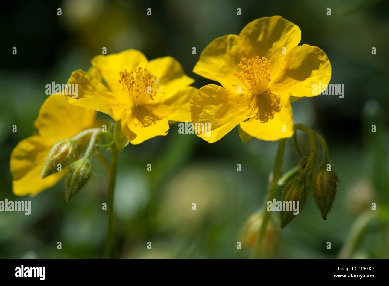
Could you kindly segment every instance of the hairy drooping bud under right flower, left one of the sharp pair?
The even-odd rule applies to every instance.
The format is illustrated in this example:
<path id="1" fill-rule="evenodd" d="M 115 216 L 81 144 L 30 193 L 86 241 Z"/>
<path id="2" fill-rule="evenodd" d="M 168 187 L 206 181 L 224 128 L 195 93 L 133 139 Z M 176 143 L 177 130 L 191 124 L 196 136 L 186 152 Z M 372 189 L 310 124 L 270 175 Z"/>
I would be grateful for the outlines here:
<path id="1" fill-rule="evenodd" d="M 307 199 L 307 188 L 305 185 L 305 179 L 301 176 L 291 179 L 282 190 L 282 203 L 287 206 L 298 206 L 297 211 L 293 211 L 293 208 L 289 207 L 289 210 L 285 209 L 280 212 L 281 214 L 281 228 L 288 225 L 301 211 Z M 298 202 L 298 204 L 297 204 Z"/>

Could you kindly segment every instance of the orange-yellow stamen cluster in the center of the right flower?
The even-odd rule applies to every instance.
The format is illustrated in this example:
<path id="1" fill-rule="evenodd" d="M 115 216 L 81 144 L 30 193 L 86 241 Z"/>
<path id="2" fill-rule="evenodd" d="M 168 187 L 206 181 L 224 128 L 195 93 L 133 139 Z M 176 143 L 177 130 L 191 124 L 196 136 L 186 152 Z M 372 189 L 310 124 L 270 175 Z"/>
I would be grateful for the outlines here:
<path id="1" fill-rule="evenodd" d="M 254 95 L 261 95 L 265 92 L 270 82 L 270 63 L 267 58 L 262 57 L 247 60 L 241 58 L 238 64 L 240 72 L 234 72 L 240 82 L 244 85 L 243 90 Z M 233 86 L 236 86 L 233 84 Z"/>

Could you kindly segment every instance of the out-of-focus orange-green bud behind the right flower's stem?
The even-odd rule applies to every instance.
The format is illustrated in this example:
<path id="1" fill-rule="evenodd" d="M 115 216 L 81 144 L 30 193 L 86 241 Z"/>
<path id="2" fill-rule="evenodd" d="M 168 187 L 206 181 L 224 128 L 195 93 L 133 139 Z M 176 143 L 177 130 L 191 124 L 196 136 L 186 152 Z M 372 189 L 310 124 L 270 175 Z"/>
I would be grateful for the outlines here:
<path id="1" fill-rule="evenodd" d="M 240 240 L 242 247 L 249 246 L 254 248 L 258 241 L 259 227 L 262 223 L 263 211 L 257 211 L 252 214 L 245 222 Z M 266 226 L 265 237 L 263 238 L 259 254 L 266 258 L 273 258 L 277 253 L 280 244 L 280 233 L 272 218 L 269 219 Z"/>

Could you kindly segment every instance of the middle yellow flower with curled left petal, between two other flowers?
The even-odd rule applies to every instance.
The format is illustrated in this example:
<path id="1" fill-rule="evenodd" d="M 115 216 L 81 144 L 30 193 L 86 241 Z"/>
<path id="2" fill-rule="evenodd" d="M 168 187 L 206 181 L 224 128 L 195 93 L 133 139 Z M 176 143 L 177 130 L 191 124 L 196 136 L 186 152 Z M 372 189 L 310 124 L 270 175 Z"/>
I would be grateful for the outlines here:
<path id="1" fill-rule="evenodd" d="M 190 122 L 189 100 L 197 89 L 174 58 L 147 61 L 140 51 L 126 50 L 99 55 L 92 65 L 103 81 L 76 70 L 68 84 L 78 84 L 78 97 L 67 96 L 71 104 L 89 107 L 121 119 L 122 131 L 131 144 L 166 135 L 168 120 Z"/>

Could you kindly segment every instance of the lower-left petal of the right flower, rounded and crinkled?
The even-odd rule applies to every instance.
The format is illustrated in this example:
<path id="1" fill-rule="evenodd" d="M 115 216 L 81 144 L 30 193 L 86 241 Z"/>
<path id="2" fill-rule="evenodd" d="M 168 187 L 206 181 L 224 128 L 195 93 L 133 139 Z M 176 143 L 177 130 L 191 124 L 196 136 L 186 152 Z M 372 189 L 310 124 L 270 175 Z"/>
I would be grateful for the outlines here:
<path id="1" fill-rule="evenodd" d="M 221 139 L 247 119 L 249 112 L 247 95 L 228 93 L 226 89 L 215 84 L 203 86 L 191 98 L 192 123 L 210 126 L 210 133 L 207 129 L 207 132 L 197 134 L 209 143 Z"/>

